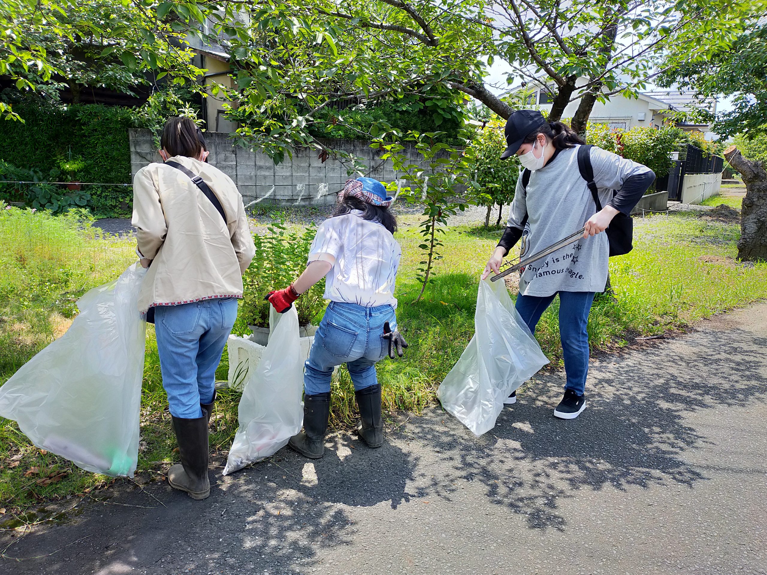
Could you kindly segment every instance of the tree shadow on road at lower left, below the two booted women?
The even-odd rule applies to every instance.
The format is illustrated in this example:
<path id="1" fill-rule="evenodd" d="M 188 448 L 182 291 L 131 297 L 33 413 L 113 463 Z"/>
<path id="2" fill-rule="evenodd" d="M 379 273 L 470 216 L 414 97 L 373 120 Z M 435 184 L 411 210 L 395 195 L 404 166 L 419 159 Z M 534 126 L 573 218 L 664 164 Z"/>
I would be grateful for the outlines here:
<path id="1" fill-rule="evenodd" d="M 369 507 L 408 500 L 416 459 L 396 445 L 367 449 L 329 438 L 316 461 L 288 448 L 222 477 L 193 501 L 162 485 L 100 492 L 70 525 L 0 537 L 14 573 L 288 573 L 311 566 L 319 550 L 348 544 L 354 521 L 338 504 Z M 335 442 L 335 445 L 331 445 Z M 353 445 L 353 446 L 352 446 Z M 339 465 L 343 453 L 344 461 Z M 15 561 L 9 558 L 21 558 Z"/>

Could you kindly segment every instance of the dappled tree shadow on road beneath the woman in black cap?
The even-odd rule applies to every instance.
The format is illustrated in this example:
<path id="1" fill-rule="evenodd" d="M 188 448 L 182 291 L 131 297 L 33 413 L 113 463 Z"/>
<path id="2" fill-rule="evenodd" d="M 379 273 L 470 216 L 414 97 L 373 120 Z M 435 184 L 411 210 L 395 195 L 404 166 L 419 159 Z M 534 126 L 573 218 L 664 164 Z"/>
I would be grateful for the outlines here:
<path id="1" fill-rule="evenodd" d="M 526 517 L 528 527 L 564 530 L 559 511 L 578 490 L 684 485 L 706 480 L 686 452 L 709 439 L 686 418 L 717 406 L 742 407 L 767 400 L 767 338 L 746 330 L 699 332 L 678 343 L 657 343 L 592 366 L 588 409 L 578 419 L 553 417 L 564 374 L 528 384 L 499 416 L 492 431 L 474 438 L 446 412 L 418 426 L 426 445 L 439 451 L 437 478 L 420 472 L 419 496 L 449 499 L 460 481 L 479 481 L 494 504 Z M 596 369 L 594 369 L 596 368 Z M 467 441 L 469 439 L 469 441 Z"/>

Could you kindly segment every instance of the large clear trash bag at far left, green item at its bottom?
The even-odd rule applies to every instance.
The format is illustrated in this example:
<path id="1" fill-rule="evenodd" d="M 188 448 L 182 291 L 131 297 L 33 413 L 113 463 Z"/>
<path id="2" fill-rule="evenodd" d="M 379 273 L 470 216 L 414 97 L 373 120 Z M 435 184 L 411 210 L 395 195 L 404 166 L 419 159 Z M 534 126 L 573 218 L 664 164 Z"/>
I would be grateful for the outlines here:
<path id="1" fill-rule="evenodd" d="M 41 449 L 77 467 L 133 477 L 146 321 L 138 297 L 146 270 L 88 291 L 71 327 L 0 387 L 0 416 Z"/>

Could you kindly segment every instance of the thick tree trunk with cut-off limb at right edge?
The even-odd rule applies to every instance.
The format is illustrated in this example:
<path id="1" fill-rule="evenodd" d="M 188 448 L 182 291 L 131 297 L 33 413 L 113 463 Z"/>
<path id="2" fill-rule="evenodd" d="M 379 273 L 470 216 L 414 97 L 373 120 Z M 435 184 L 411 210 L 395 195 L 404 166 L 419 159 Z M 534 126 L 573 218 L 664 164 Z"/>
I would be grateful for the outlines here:
<path id="1" fill-rule="evenodd" d="M 738 258 L 742 261 L 767 261 L 767 172 L 761 162 L 741 156 L 729 146 L 724 157 L 743 176 L 746 197 L 740 211 Z"/>

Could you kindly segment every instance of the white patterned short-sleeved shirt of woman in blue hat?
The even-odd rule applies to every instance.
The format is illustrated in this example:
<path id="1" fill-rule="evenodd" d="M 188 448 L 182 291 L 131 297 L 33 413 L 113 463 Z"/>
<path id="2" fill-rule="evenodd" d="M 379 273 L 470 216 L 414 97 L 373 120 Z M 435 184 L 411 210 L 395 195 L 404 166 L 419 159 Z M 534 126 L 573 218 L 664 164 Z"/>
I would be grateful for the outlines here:
<path id="1" fill-rule="evenodd" d="M 352 210 L 322 222 L 308 261 L 333 265 L 325 278 L 325 299 L 364 307 L 397 307 L 394 283 L 402 249 L 387 228 L 361 214 Z"/>

